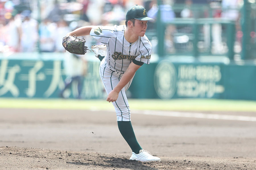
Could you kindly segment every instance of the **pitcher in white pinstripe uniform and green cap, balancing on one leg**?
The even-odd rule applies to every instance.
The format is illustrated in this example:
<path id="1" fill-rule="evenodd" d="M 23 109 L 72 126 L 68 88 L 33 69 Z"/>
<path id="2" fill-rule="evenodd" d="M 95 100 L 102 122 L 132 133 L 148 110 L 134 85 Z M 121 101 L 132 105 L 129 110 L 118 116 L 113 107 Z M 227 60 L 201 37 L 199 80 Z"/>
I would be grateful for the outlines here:
<path id="1" fill-rule="evenodd" d="M 106 45 L 106 56 L 100 63 L 100 77 L 108 94 L 107 101 L 115 107 L 119 131 L 130 146 L 130 160 L 160 161 L 143 150 L 135 137 L 131 125 L 131 110 L 125 91 L 131 85 L 135 72 L 145 63 L 149 64 L 152 45 L 145 35 L 147 17 L 144 7 L 134 5 L 126 13 L 125 25 L 84 26 L 67 36 L 91 35 Z M 93 47 L 92 47 L 93 49 Z M 93 51 L 97 54 L 95 48 Z"/>

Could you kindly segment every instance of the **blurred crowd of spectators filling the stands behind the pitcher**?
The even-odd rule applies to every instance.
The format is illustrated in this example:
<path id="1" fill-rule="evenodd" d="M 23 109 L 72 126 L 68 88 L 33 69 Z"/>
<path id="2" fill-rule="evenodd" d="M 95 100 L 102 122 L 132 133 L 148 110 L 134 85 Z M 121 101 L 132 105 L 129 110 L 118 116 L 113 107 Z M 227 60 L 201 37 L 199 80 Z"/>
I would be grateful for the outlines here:
<path id="1" fill-rule="evenodd" d="M 222 8 L 235 9 L 240 0 L 162 0 L 161 19 L 200 17 L 191 10 L 192 3 L 216 2 Z M 172 9 L 175 3 L 185 7 L 176 12 Z M 0 52 L 63 52 L 61 42 L 66 33 L 84 25 L 124 24 L 125 13 L 134 4 L 157 18 L 156 0 L 0 0 Z M 213 17 L 238 20 L 238 10 L 214 12 Z M 154 23 L 149 23 L 148 29 L 154 29 Z"/>

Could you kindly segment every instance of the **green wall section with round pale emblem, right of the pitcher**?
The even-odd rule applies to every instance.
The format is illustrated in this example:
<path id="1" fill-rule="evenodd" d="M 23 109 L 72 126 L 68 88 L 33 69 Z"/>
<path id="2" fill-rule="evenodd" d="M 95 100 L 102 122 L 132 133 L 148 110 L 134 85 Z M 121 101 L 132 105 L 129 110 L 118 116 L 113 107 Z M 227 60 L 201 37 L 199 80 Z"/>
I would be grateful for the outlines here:
<path id="1" fill-rule="evenodd" d="M 143 65 L 129 90 L 133 98 L 256 100 L 256 65 L 162 60 Z"/>

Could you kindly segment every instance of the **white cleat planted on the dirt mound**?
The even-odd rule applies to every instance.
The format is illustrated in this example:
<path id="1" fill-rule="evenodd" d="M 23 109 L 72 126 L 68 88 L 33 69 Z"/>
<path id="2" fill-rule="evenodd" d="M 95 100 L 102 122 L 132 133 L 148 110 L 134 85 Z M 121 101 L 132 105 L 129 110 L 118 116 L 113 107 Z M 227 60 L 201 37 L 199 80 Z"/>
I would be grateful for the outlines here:
<path id="1" fill-rule="evenodd" d="M 156 156 L 152 156 L 148 151 L 141 149 L 138 154 L 135 154 L 133 152 L 130 160 L 149 162 L 149 161 L 160 161 L 161 159 Z"/>

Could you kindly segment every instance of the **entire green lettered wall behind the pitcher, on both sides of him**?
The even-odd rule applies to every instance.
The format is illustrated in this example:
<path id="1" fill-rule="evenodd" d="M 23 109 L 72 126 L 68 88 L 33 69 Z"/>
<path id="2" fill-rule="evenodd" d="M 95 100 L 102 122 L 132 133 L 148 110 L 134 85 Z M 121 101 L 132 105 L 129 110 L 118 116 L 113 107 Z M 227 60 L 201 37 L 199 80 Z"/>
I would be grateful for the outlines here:
<path id="1" fill-rule="evenodd" d="M 106 98 L 99 64 L 98 60 L 87 62 L 84 99 Z M 65 78 L 61 58 L 0 58 L 0 97 L 56 98 Z M 72 86 L 67 97 L 76 97 L 76 90 Z M 136 72 L 129 92 L 132 98 L 256 100 L 256 65 L 161 60 L 144 64 Z"/>

